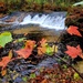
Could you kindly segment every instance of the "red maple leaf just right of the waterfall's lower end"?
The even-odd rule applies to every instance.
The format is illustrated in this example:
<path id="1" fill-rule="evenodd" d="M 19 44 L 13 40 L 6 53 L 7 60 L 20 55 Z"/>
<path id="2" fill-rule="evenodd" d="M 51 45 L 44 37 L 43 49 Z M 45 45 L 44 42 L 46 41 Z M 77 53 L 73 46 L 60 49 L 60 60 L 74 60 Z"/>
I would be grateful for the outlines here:
<path id="1" fill-rule="evenodd" d="M 77 37 L 82 37 L 81 33 L 77 31 L 77 27 L 74 27 L 74 25 L 70 25 L 66 31 L 68 33 L 70 33 L 71 35 L 77 35 Z"/>

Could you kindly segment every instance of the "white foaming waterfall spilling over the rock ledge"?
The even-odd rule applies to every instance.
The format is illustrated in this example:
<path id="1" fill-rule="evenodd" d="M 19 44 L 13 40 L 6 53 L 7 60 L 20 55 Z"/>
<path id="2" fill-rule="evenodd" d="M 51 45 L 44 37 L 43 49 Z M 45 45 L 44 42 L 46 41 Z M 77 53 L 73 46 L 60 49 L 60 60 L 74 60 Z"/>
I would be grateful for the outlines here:
<path id="1" fill-rule="evenodd" d="M 63 30 L 65 28 L 66 12 L 53 12 L 49 14 L 37 13 L 32 17 L 32 14 L 28 14 L 20 24 L 39 24 L 42 28 Z"/>

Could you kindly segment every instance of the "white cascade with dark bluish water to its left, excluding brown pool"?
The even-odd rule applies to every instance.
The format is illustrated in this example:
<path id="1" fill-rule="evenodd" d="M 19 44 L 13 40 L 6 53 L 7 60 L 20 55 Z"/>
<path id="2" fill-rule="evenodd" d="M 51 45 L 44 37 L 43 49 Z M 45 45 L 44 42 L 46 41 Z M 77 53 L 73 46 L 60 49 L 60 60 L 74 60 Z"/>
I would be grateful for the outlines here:
<path id="1" fill-rule="evenodd" d="M 2 19 L 0 24 L 9 24 L 12 28 L 15 25 L 28 25 L 33 24 L 41 28 L 63 30 L 65 28 L 66 12 L 52 12 L 52 13 L 25 13 L 25 12 L 13 12 Z M 13 20 L 14 21 L 11 21 Z"/>

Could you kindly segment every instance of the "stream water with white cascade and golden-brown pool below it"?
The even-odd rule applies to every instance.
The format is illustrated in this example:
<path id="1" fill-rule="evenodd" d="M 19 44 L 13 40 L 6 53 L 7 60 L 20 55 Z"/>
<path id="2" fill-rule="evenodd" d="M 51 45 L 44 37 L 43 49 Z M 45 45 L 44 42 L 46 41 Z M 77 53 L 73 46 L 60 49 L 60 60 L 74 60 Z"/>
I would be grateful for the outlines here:
<path id="1" fill-rule="evenodd" d="M 2 19 L 0 31 L 12 30 L 13 33 L 29 33 L 41 31 L 49 41 L 55 41 L 61 31 L 65 29 L 66 12 L 33 13 L 13 12 Z"/>

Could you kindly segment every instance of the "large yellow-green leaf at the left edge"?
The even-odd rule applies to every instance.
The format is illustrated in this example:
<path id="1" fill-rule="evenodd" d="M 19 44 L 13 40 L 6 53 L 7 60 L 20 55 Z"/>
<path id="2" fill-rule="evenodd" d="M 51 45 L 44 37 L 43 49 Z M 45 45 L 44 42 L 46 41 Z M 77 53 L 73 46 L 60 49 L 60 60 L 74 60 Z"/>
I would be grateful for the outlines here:
<path id="1" fill-rule="evenodd" d="M 3 32 L 0 34 L 0 46 L 4 48 L 4 45 L 11 41 L 12 41 L 12 35 L 10 32 Z"/>

